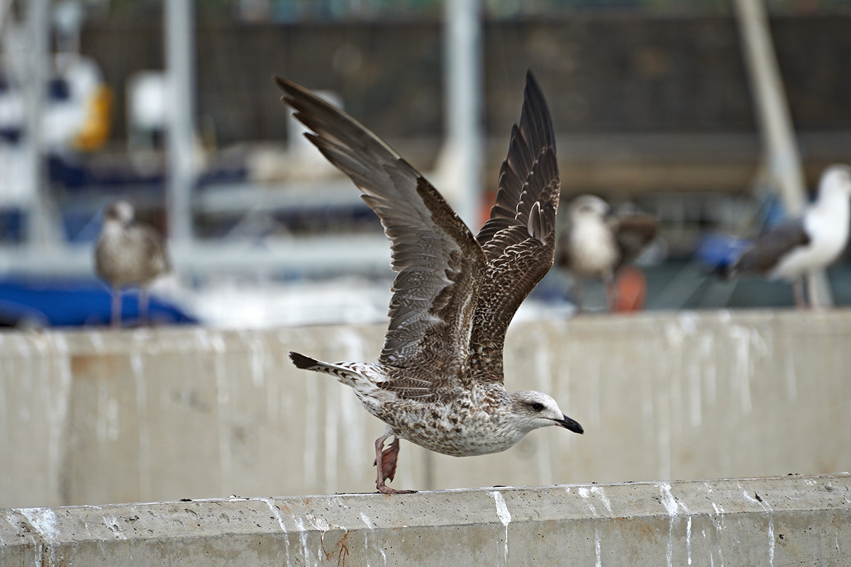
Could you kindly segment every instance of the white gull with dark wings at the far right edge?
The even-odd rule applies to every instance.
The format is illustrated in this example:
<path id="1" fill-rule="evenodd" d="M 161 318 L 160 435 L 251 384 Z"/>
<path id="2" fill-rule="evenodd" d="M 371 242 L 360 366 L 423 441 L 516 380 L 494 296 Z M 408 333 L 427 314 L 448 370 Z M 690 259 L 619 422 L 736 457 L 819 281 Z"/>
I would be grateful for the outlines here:
<path id="1" fill-rule="evenodd" d="M 789 281 L 795 304 L 803 307 L 804 276 L 825 269 L 839 258 L 848 245 L 849 217 L 851 167 L 832 165 L 821 175 L 816 200 L 800 216 L 787 218 L 760 236 L 726 275 L 757 274 Z"/>

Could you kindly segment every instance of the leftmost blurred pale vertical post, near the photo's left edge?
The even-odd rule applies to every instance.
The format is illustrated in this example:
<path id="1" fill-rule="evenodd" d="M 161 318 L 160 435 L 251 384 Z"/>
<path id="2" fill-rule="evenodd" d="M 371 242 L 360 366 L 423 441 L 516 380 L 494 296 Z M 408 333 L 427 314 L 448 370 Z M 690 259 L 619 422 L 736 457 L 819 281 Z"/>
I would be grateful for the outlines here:
<path id="1" fill-rule="evenodd" d="M 48 179 L 44 171 L 43 118 L 47 100 L 50 14 L 49 0 L 26 3 L 26 71 L 23 74 L 27 181 L 31 184 L 26 216 L 26 241 L 31 247 L 45 248 L 56 241 L 51 224 Z"/>

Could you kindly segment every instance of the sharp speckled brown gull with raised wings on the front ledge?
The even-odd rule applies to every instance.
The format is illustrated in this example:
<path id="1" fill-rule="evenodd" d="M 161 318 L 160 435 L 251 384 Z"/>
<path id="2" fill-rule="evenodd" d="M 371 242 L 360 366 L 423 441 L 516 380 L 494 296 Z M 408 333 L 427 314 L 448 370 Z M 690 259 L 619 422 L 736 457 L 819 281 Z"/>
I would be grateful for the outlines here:
<path id="1" fill-rule="evenodd" d="M 473 236 L 426 179 L 351 116 L 294 82 L 274 77 L 307 138 L 362 191 L 391 240 L 390 326 L 377 363 L 328 363 L 290 353 L 295 366 L 354 388 L 386 422 L 375 440 L 375 485 L 396 473 L 399 439 L 445 455 L 505 451 L 536 428 L 582 427 L 556 400 L 506 392 L 505 329 L 552 266 L 560 183 L 550 111 L 531 73 L 520 124 L 490 218 Z M 386 439 L 394 437 L 384 448 Z"/>

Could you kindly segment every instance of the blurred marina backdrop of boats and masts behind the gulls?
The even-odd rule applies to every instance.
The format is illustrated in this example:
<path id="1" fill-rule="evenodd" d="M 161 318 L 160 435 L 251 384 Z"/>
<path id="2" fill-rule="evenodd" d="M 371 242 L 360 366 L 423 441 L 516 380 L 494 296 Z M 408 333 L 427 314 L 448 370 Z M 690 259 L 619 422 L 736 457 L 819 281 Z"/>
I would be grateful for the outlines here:
<path id="1" fill-rule="evenodd" d="M 385 320 L 378 219 L 273 73 L 368 124 L 475 232 L 532 69 L 563 204 L 659 222 L 646 309 L 791 306 L 782 282 L 711 269 L 851 162 L 849 26 L 842 0 L 0 0 L 0 325 L 109 321 L 92 250 L 116 198 L 167 242 L 160 323 Z M 849 279 L 843 254 L 817 303 L 851 303 Z M 569 289 L 552 270 L 518 317 L 571 315 Z M 606 309 L 602 282 L 584 291 Z"/>

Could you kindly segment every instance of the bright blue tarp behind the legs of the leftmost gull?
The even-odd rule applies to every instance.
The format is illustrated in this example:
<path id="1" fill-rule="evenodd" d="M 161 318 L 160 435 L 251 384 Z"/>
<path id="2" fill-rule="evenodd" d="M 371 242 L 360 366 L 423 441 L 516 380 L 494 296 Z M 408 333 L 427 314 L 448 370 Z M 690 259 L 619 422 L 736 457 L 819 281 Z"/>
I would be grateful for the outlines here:
<path id="1" fill-rule="evenodd" d="M 122 293 L 122 324 L 139 319 L 139 294 L 135 289 Z M 31 281 L 0 280 L 0 324 L 30 323 L 43 326 L 109 325 L 109 288 L 94 280 Z M 157 325 L 196 323 L 180 307 L 151 296 L 148 316 Z"/>

